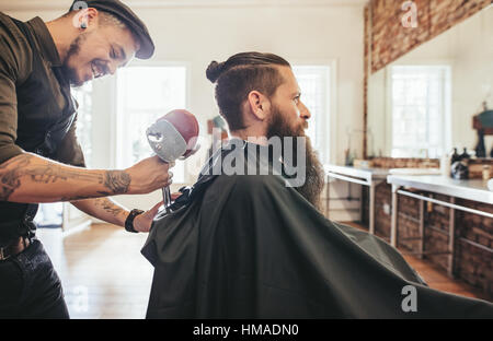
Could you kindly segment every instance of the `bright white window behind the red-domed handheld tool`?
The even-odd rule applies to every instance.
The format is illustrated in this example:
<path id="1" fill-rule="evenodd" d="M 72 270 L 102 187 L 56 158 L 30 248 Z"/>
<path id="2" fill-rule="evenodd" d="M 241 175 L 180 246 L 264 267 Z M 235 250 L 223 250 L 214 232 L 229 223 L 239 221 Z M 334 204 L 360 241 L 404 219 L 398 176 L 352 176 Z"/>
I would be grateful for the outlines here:
<path id="1" fill-rule="evenodd" d="M 146 130 L 172 109 L 186 107 L 186 67 L 128 67 L 117 74 L 117 165 L 129 167 L 151 156 Z M 184 183 L 176 162 L 173 181 Z"/>

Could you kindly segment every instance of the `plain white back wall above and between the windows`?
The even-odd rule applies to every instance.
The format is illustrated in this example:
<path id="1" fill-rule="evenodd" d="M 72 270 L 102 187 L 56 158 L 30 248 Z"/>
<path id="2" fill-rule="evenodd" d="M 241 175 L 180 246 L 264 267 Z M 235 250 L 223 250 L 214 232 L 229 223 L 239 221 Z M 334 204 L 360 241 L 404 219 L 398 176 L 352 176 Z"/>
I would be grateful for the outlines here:
<path id="1" fill-rule="evenodd" d="M 353 3 L 351 1 L 348 3 Z M 335 60 L 336 109 L 332 161 L 344 163 L 347 129 L 363 129 L 363 5 L 296 7 L 170 7 L 134 9 L 146 22 L 154 39 L 156 55 L 151 61 L 185 61 L 190 64 L 191 87 L 188 108 L 206 120 L 216 116 L 213 84 L 205 70 L 215 59 L 226 60 L 239 51 L 270 51 L 296 62 Z M 341 4 L 342 3 L 342 4 Z M 0 4 L 1 10 L 1 4 Z M 62 11 L 7 12 L 18 19 L 34 15 L 51 20 Z M 114 165 L 114 107 L 112 80 L 95 82 L 93 145 L 95 167 Z M 329 127 L 328 127 L 329 133 Z M 362 145 L 353 149 L 360 154 Z M 128 207 L 147 207 L 160 193 L 139 200 L 122 198 Z M 151 198 L 151 199 L 149 199 Z"/>

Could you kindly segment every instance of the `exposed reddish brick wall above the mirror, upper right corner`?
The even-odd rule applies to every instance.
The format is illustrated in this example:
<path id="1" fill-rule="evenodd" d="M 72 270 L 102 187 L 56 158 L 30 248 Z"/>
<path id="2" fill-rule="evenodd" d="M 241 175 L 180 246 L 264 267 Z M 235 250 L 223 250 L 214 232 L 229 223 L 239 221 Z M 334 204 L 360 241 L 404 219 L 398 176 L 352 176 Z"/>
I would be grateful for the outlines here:
<path id="1" fill-rule="evenodd" d="M 371 70 L 376 72 L 410 50 L 493 3 L 493 0 L 414 0 L 417 27 L 404 27 L 403 0 L 371 0 Z"/>

